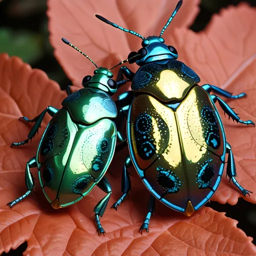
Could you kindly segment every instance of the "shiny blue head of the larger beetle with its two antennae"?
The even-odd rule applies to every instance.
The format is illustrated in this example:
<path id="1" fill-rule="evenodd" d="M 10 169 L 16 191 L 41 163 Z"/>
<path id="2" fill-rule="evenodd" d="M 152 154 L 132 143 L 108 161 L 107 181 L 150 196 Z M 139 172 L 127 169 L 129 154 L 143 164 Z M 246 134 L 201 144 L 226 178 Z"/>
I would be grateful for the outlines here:
<path id="1" fill-rule="evenodd" d="M 172 12 L 171 16 L 169 17 L 168 21 L 163 26 L 159 36 L 152 35 L 152 36 L 147 36 L 146 38 L 144 36 L 142 36 L 141 34 L 134 32 L 132 30 L 123 28 L 123 27 L 107 20 L 106 18 L 104 18 L 100 15 L 96 15 L 96 17 L 109 25 L 119 28 L 119 29 L 123 30 L 124 32 L 128 32 L 133 35 L 136 35 L 137 37 L 142 39 L 142 42 L 141 42 L 142 48 L 140 48 L 137 52 L 132 51 L 128 55 L 128 58 L 130 58 L 130 57 L 133 57 L 133 56 L 139 54 L 136 58 L 132 58 L 132 60 L 130 60 L 129 63 L 136 62 L 137 65 L 142 66 L 142 65 L 150 63 L 150 62 L 156 62 L 156 61 L 157 62 L 159 62 L 159 61 L 166 62 L 170 59 L 177 59 L 178 53 L 177 53 L 176 49 L 173 46 L 166 45 L 164 43 L 164 39 L 161 37 L 161 35 L 165 31 L 167 26 L 169 25 L 170 21 L 175 16 L 175 14 L 177 13 L 181 4 L 182 4 L 182 0 L 179 0 L 174 11 Z"/>

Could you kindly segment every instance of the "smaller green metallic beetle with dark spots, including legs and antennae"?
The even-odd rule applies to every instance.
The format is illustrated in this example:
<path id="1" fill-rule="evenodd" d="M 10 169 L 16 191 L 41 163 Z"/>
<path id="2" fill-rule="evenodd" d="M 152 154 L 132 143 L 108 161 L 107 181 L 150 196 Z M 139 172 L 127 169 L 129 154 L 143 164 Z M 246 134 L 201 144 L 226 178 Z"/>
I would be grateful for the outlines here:
<path id="1" fill-rule="evenodd" d="M 115 82 L 110 69 L 128 59 L 110 69 L 98 67 L 69 41 L 64 38 L 62 41 L 86 56 L 96 69 L 93 76 L 86 75 L 83 78 L 84 88 L 62 101 L 61 109 L 48 106 L 33 119 L 21 117 L 35 124 L 26 140 L 14 142 L 11 146 L 23 145 L 32 139 L 46 112 L 52 119 L 41 137 L 36 156 L 26 163 L 27 191 L 8 204 L 12 207 L 32 193 L 32 167 L 37 167 L 43 193 L 55 209 L 76 203 L 97 185 L 107 193 L 94 207 L 98 234 L 104 234 L 99 216 L 102 217 L 111 194 L 111 185 L 104 174 L 113 158 L 116 143 L 116 126 L 113 120 L 117 116 L 117 109 L 110 95 L 126 82 Z"/>

